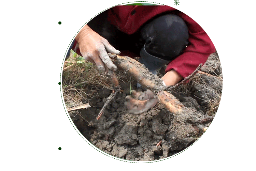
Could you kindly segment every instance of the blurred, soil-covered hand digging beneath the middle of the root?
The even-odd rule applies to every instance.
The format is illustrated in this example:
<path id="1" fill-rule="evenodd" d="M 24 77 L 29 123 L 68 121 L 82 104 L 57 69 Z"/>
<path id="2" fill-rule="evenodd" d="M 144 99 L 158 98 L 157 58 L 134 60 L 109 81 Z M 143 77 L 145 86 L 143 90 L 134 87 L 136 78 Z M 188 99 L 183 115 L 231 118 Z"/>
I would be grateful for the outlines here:
<path id="1" fill-rule="evenodd" d="M 155 94 L 147 90 L 143 93 L 132 90 L 132 96 L 125 97 L 125 106 L 128 109 L 129 113 L 140 114 L 143 113 L 158 103 L 158 98 L 155 97 Z"/>

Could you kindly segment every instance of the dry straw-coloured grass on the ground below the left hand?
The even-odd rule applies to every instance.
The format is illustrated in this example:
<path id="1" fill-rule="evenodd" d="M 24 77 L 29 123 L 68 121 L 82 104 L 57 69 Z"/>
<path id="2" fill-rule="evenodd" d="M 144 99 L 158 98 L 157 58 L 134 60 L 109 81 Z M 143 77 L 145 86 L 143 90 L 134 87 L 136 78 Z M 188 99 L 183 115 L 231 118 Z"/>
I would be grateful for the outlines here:
<path id="1" fill-rule="evenodd" d="M 81 56 L 71 50 L 64 65 L 64 68 L 72 65 L 63 70 L 62 75 L 62 92 L 67 108 L 88 103 L 90 99 L 97 97 L 97 91 L 102 87 L 112 90 L 108 77 L 101 73 L 96 65 L 81 59 Z M 117 71 L 116 76 L 119 82 L 134 83 L 124 72 Z"/>

